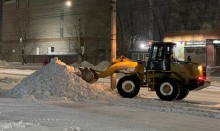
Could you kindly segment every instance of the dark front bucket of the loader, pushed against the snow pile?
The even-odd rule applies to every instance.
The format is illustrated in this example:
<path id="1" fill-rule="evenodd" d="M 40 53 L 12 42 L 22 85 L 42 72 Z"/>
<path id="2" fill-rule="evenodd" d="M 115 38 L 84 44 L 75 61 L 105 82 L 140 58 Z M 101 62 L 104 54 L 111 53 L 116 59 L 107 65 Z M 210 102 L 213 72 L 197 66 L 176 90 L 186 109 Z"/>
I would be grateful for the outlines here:
<path id="1" fill-rule="evenodd" d="M 80 67 L 79 70 L 81 71 L 82 79 L 88 83 L 95 83 L 99 78 L 99 75 L 92 68 Z"/>

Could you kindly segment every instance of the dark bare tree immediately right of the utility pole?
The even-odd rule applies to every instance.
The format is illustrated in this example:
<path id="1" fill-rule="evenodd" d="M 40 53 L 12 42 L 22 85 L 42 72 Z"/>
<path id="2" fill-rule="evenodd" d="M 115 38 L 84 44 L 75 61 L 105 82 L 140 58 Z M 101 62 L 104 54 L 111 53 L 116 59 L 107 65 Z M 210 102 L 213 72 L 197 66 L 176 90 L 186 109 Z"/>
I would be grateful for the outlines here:
<path id="1" fill-rule="evenodd" d="M 123 3 L 122 0 L 118 1 L 120 7 L 118 6 L 117 8 L 117 38 L 121 54 L 124 54 L 128 49 L 133 49 L 136 41 L 139 15 L 136 8 L 137 2 L 131 2 Z"/>

